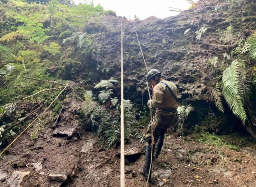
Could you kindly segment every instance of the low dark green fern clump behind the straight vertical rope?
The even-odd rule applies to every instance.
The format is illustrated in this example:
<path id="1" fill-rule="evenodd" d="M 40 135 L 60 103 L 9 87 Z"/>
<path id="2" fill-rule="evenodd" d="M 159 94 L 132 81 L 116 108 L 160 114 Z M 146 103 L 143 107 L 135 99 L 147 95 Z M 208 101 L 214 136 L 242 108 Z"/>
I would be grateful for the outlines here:
<path id="1" fill-rule="evenodd" d="M 93 101 L 85 101 L 82 105 L 82 111 L 89 116 L 89 127 L 98 135 L 100 146 L 110 148 L 117 142 L 120 142 L 120 107 L 115 110 L 107 110 Z M 124 100 L 124 137 L 129 141 L 138 133 L 135 115 L 132 112 L 132 103 L 130 100 Z"/>

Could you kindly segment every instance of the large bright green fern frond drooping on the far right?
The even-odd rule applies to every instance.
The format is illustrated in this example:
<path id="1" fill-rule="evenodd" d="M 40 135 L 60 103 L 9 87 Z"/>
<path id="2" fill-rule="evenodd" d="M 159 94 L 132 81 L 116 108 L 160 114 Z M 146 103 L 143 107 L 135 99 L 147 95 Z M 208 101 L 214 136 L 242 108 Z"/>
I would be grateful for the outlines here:
<path id="1" fill-rule="evenodd" d="M 222 93 L 233 114 L 243 123 L 247 119 L 244 109 L 245 88 L 240 74 L 241 62 L 234 60 L 231 66 L 223 72 Z"/>

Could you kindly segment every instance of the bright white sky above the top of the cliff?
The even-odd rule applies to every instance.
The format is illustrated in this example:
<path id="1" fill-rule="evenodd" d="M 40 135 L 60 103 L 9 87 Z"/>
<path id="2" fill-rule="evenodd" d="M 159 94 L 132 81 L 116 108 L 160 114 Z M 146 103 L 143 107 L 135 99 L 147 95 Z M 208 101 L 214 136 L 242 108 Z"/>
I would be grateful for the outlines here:
<path id="1" fill-rule="evenodd" d="M 76 4 L 84 3 L 88 0 L 73 0 Z M 194 0 L 197 2 L 198 0 Z M 90 1 L 89 1 L 90 2 Z M 105 10 L 116 12 L 117 16 L 125 16 L 134 19 L 134 15 L 142 20 L 150 16 L 157 18 L 166 18 L 175 16 L 179 12 L 169 11 L 169 7 L 179 8 L 181 10 L 188 9 L 191 4 L 186 0 L 94 0 L 94 5 L 100 3 Z"/>

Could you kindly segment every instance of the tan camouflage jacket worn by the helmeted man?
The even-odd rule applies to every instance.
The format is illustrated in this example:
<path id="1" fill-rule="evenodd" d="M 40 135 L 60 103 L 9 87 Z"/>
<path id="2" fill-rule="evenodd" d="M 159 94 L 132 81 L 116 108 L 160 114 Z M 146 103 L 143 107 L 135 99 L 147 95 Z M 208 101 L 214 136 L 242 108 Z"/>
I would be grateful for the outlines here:
<path id="1" fill-rule="evenodd" d="M 151 105 L 151 108 L 157 108 L 160 116 L 170 116 L 173 115 L 172 112 L 166 112 L 164 109 L 167 108 L 178 108 L 178 103 L 170 93 L 168 87 L 161 83 L 166 83 L 171 89 L 173 94 L 177 97 L 178 89 L 175 84 L 170 81 L 161 79 L 161 81 L 154 87 L 152 100 L 148 101 L 148 106 Z"/>

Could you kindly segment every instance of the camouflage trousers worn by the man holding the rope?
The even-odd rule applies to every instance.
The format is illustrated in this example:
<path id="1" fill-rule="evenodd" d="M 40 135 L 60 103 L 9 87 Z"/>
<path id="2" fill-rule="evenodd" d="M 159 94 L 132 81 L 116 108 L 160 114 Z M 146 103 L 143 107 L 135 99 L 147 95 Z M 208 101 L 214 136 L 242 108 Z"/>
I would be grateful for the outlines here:
<path id="1" fill-rule="evenodd" d="M 164 136 L 168 128 L 174 127 L 178 121 L 178 115 L 160 116 L 158 112 L 155 113 L 152 119 L 152 125 L 149 123 L 146 134 L 146 145 L 151 144 L 151 128 L 153 130 L 154 142 L 156 143 L 159 136 Z"/>

